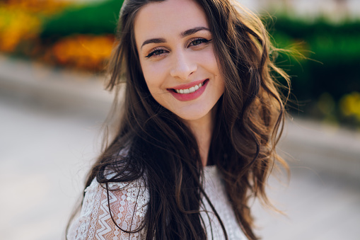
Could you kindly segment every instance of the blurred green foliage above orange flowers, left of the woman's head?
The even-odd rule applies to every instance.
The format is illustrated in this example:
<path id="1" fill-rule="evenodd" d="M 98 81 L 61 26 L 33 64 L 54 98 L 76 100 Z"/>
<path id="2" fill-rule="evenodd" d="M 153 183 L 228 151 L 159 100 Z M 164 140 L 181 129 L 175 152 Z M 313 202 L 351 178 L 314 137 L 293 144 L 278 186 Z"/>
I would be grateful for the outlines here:
<path id="1" fill-rule="evenodd" d="M 44 21 L 42 40 L 62 38 L 73 34 L 111 34 L 124 0 L 100 1 L 86 5 L 70 5 Z"/>

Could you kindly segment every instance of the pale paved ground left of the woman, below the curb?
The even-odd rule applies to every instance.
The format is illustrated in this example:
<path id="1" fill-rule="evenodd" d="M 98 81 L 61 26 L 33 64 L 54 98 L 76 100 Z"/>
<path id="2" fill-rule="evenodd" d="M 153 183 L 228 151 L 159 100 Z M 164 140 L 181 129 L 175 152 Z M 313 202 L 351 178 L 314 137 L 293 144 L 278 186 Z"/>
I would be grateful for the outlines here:
<path id="1" fill-rule="evenodd" d="M 96 122 L 0 103 L 0 239 L 61 239 L 93 159 Z"/>

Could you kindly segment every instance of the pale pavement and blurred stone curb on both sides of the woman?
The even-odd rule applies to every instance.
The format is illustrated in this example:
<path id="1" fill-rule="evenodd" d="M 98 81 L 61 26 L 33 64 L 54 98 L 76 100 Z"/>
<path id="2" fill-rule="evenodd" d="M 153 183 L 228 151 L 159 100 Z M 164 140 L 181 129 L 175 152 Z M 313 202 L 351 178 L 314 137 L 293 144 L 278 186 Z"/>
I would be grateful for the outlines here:
<path id="1" fill-rule="evenodd" d="M 110 107 L 100 89 L 89 75 L 0 57 L 0 239 L 62 239 Z M 280 150 L 291 180 L 269 181 L 287 217 L 255 202 L 264 239 L 360 239 L 359 146 L 354 132 L 289 122 Z"/>

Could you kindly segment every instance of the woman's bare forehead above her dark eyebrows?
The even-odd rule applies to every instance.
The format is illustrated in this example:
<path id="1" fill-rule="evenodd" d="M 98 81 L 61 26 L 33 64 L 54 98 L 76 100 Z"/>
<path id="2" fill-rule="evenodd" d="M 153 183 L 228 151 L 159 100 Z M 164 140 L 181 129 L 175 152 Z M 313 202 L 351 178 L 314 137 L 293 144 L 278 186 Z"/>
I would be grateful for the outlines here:
<path id="1" fill-rule="evenodd" d="M 207 16 L 194 0 L 166 0 L 146 4 L 134 21 L 135 38 L 159 38 L 182 33 L 190 28 L 209 28 Z"/>

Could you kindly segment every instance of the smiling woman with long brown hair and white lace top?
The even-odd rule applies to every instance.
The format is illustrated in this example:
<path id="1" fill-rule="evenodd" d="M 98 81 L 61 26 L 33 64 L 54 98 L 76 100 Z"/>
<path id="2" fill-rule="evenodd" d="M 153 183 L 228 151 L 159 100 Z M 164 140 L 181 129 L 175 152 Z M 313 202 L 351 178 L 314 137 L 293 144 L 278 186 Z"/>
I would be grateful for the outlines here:
<path id="1" fill-rule="evenodd" d="M 233 4 L 125 1 L 108 84 L 126 80 L 122 114 L 68 239 L 257 239 L 248 200 L 267 203 L 284 164 L 272 73 L 288 77 L 261 21 Z"/>

